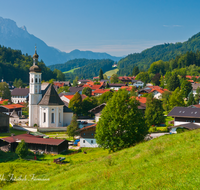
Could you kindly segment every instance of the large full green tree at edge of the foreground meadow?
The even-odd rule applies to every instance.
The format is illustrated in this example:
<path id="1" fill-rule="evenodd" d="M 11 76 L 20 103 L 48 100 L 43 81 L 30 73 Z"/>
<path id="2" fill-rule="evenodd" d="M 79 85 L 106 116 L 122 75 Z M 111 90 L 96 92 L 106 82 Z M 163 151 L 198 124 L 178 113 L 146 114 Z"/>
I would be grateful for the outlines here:
<path id="1" fill-rule="evenodd" d="M 114 152 L 142 141 L 148 133 L 148 127 L 138 105 L 139 102 L 130 98 L 126 90 L 115 92 L 97 123 L 97 143 Z"/>

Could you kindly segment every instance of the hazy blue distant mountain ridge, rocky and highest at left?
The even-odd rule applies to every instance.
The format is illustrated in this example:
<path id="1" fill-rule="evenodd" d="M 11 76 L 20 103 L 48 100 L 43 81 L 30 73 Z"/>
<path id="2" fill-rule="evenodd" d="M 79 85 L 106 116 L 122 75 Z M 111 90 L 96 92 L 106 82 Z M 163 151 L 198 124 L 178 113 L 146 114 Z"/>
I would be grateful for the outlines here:
<path id="1" fill-rule="evenodd" d="M 21 50 L 23 54 L 33 55 L 34 47 L 37 44 L 39 58 L 46 65 L 65 63 L 72 59 L 111 59 L 119 61 L 122 57 L 111 56 L 107 53 L 96 53 L 92 51 L 73 50 L 70 53 L 48 46 L 45 42 L 29 34 L 26 27 L 18 27 L 11 19 L 0 17 L 0 45 Z"/>

